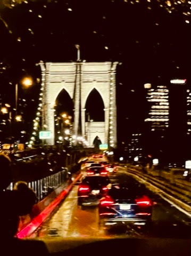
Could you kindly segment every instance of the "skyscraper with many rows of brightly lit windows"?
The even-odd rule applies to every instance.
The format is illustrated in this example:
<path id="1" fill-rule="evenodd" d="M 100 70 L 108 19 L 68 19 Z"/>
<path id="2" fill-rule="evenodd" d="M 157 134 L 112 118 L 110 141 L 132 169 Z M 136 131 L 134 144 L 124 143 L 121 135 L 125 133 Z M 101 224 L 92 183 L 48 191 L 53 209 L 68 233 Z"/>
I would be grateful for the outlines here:
<path id="1" fill-rule="evenodd" d="M 149 103 L 147 118 L 145 118 L 145 145 L 147 154 L 153 158 L 164 155 L 165 138 L 169 127 L 169 90 L 165 85 L 144 85 L 146 99 Z"/>

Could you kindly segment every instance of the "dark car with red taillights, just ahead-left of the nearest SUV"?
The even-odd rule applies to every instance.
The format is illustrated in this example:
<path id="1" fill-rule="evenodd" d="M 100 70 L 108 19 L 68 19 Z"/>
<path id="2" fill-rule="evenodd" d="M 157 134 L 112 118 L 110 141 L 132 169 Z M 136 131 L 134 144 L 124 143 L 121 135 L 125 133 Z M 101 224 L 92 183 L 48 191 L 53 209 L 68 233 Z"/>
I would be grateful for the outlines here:
<path id="1" fill-rule="evenodd" d="M 105 193 L 111 188 L 107 176 L 86 176 L 78 187 L 78 205 L 95 206 L 99 204 Z"/>

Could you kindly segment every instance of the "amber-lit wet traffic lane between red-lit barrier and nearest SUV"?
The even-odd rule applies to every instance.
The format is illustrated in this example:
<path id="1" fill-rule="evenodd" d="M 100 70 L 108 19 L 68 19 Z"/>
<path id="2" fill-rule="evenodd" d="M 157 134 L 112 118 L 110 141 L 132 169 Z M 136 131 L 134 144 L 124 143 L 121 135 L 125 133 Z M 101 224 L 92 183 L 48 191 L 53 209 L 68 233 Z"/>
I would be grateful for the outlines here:
<path id="1" fill-rule="evenodd" d="M 114 233 L 99 228 L 97 207 L 82 208 L 77 204 L 78 186 L 74 186 L 64 202 L 54 210 L 54 213 L 41 225 L 30 238 L 48 239 L 51 237 L 84 237 L 84 238 L 117 238 L 117 237 L 142 237 L 136 230 L 131 229 L 124 233 L 118 228 Z M 143 237 L 142 237 L 143 238 Z"/>

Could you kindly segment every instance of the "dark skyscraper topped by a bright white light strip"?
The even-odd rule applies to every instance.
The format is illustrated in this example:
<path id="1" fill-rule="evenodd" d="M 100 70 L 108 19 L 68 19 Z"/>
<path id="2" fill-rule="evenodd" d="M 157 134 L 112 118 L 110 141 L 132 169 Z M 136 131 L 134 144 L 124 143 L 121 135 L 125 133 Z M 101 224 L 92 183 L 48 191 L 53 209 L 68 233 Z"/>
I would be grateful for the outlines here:
<path id="1" fill-rule="evenodd" d="M 172 163 L 184 164 L 187 158 L 187 85 L 184 79 L 169 85 L 168 153 Z"/>

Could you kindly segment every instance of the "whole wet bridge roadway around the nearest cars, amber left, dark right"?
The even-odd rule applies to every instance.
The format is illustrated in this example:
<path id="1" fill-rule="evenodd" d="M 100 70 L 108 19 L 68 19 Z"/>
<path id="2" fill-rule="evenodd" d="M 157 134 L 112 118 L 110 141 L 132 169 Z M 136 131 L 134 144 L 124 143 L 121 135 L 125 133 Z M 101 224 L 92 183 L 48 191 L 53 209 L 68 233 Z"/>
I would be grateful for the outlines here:
<path id="1" fill-rule="evenodd" d="M 110 179 L 113 183 L 121 183 L 128 179 L 128 174 L 119 168 L 115 175 L 110 175 Z M 129 223 L 124 228 L 107 231 L 98 227 L 97 207 L 82 210 L 77 205 L 77 190 L 78 186 L 73 186 L 67 198 L 30 238 L 191 238 L 191 219 L 152 191 L 148 191 L 155 202 L 151 228 L 144 230 Z"/>

